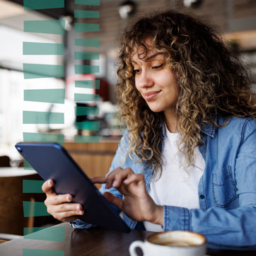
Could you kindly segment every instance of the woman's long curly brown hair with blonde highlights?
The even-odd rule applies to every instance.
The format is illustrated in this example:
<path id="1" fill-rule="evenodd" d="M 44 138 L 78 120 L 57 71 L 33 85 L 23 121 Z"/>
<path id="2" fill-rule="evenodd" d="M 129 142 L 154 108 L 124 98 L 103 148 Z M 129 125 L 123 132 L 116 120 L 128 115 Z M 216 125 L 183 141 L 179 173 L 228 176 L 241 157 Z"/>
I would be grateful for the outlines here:
<path id="1" fill-rule="evenodd" d="M 146 40 L 164 52 L 165 67 L 177 79 L 175 115 L 182 134 L 178 149 L 189 165 L 194 161 L 194 148 L 202 144 L 203 123 L 212 122 L 216 127 L 228 124 L 227 121 L 219 126 L 215 121 L 218 115 L 226 116 L 227 120 L 249 116 L 256 120 L 248 72 L 214 28 L 192 15 L 173 10 L 151 13 L 129 25 L 120 44 L 115 91 L 121 118 L 129 129 L 129 156 L 135 153 L 146 165 L 162 170 L 159 127 L 165 117 L 163 112 L 152 112 L 136 90 L 132 66 L 132 56 L 138 54 L 139 47 L 144 49 L 139 58 L 146 57 Z"/>

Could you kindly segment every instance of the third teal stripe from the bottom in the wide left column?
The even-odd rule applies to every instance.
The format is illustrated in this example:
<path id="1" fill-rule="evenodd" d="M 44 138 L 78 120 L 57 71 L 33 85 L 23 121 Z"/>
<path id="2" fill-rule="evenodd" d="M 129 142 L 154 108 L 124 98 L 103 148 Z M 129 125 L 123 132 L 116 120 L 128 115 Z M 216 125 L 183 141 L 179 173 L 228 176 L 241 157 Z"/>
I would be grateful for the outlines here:
<path id="1" fill-rule="evenodd" d="M 49 216 L 44 202 L 23 201 L 24 217 Z"/>

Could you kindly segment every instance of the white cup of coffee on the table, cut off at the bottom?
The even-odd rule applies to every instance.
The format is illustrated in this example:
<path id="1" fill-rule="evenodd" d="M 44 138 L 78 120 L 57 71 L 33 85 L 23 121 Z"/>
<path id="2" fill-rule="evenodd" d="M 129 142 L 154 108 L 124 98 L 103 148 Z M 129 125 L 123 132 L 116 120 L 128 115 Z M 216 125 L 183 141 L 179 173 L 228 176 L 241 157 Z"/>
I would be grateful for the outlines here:
<path id="1" fill-rule="evenodd" d="M 166 231 L 149 235 L 143 242 L 134 241 L 129 246 L 131 256 L 137 256 L 136 248 L 141 248 L 144 256 L 204 256 L 206 238 L 190 231 Z"/>

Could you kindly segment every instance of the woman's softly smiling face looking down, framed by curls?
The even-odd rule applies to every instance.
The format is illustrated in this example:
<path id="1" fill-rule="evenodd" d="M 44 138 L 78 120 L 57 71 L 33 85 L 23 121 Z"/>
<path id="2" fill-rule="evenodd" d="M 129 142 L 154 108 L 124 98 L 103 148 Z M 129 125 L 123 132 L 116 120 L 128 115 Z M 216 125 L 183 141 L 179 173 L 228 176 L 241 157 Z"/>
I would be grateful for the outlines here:
<path id="1" fill-rule="evenodd" d="M 150 43 L 147 45 L 148 54 L 144 60 L 139 59 L 138 53 L 132 58 L 136 89 L 153 112 L 173 113 L 178 99 L 175 75 L 170 69 L 165 68 L 163 52 L 150 47 Z M 138 52 L 140 50 L 142 49 Z"/>

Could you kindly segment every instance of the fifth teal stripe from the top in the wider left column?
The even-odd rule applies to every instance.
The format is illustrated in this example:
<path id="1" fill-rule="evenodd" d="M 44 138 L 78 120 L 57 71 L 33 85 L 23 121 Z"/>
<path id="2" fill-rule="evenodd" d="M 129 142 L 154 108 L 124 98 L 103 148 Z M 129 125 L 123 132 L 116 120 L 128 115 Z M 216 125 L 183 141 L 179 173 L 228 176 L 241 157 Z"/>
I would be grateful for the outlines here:
<path id="1" fill-rule="evenodd" d="M 37 101 L 40 103 L 64 104 L 65 89 L 24 90 L 24 100 Z"/>

